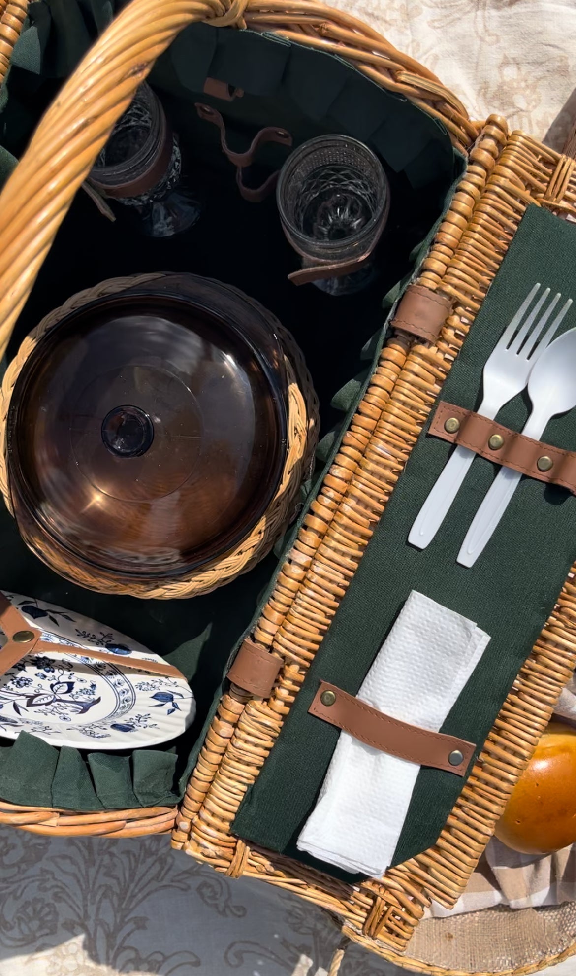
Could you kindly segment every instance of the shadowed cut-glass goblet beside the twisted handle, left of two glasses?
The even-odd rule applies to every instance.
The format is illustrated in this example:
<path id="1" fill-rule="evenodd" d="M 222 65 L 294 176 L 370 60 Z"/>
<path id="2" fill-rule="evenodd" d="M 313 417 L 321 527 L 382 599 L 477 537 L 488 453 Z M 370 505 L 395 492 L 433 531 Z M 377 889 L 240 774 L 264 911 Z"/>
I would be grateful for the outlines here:
<path id="1" fill-rule="evenodd" d="M 202 211 L 183 172 L 178 139 L 146 84 L 114 126 L 89 183 L 101 196 L 132 208 L 150 237 L 172 237 L 195 224 Z"/>

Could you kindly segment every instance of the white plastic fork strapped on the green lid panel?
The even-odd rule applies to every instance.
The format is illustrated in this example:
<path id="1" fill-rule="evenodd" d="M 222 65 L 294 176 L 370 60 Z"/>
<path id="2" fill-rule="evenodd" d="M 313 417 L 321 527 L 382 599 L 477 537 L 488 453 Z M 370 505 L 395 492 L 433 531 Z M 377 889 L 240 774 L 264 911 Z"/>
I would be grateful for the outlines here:
<path id="1" fill-rule="evenodd" d="M 542 334 L 561 298 L 558 293 L 538 318 L 542 306 L 550 295 L 550 288 L 547 288 L 523 322 L 524 315 L 539 289 L 540 283 L 530 289 L 516 315 L 486 359 L 482 371 L 482 401 L 478 409 L 481 417 L 494 420 L 501 407 L 521 393 L 528 382 L 532 367 L 554 339 L 557 328 L 568 310 L 570 302 L 561 308 L 547 331 Z M 408 542 L 412 546 L 426 549 L 432 542 L 475 457 L 474 451 L 466 447 L 458 445 L 454 449 L 410 529 Z"/>

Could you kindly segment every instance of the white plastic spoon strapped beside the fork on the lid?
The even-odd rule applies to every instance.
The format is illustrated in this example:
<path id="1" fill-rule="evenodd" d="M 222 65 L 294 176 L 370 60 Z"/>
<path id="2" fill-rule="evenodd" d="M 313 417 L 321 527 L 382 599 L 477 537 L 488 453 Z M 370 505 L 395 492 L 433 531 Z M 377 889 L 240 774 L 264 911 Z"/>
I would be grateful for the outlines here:
<path id="1" fill-rule="evenodd" d="M 528 380 L 532 412 L 522 433 L 540 440 L 557 414 L 576 406 L 576 329 L 558 336 L 544 350 Z M 478 509 L 458 553 L 462 566 L 473 566 L 502 518 L 521 478 L 519 471 L 500 468 Z"/>

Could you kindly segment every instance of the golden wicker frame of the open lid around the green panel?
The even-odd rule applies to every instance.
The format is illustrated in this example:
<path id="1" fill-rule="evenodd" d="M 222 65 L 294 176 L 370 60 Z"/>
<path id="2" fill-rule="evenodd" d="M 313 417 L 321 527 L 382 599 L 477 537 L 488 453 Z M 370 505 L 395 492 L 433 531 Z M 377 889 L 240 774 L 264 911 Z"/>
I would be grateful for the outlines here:
<path id="1" fill-rule="evenodd" d="M 576 201 L 575 164 L 490 118 L 472 151 L 420 283 L 451 295 L 453 313 L 435 346 L 397 335 L 380 356 L 340 454 L 305 519 L 253 636 L 285 661 L 269 701 L 224 695 L 173 834 L 174 846 L 231 876 L 281 884 L 338 915 L 342 930 L 405 966 L 414 927 L 434 898 L 457 901 L 518 775 L 576 663 L 576 588 L 571 577 L 484 745 L 433 848 L 358 890 L 230 835 L 362 558 L 409 452 L 529 202 L 563 213 Z M 564 176 L 564 175 L 567 176 Z M 257 748 L 255 747 L 255 744 Z"/>

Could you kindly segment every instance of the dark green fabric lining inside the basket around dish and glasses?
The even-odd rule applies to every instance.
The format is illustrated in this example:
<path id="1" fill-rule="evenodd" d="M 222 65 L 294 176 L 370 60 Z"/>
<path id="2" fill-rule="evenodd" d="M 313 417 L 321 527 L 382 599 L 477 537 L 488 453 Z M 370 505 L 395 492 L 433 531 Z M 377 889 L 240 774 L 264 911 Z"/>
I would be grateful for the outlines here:
<path id="1" fill-rule="evenodd" d="M 0 181 L 16 164 L 39 116 L 57 94 L 60 79 L 123 5 L 113 0 L 31 4 L 8 85 L 3 87 Z M 209 99 L 202 91 L 209 75 L 239 85 L 244 97 L 230 103 Z M 421 260 L 423 241 L 442 216 L 463 160 L 453 154 L 436 120 L 384 93 L 344 61 L 267 35 L 194 24 L 157 62 L 151 83 L 180 136 L 191 179 L 204 195 L 201 221 L 177 238 L 149 240 L 134 230 L 126 209 L 118 207 L 118 220 L 110 224 L 79 193 L 20 315 L 9 358 L 44 314 L 104 278 L 159 267 L 218 277 L 276 312 L 303 348 L 320 398 L 322 427 L 333 428 L 333 456 L 383 340 L 381 296 L 391 288 L 396 296 L 398 282 L 405 281 Z M 413 134 L 406 139 L 404 152 L 398 149 L 398 134 L 390 147 L 395 164 L 389 169 L 390 236 L 382 241 L 382 273 L 371 289 L 335 301 L 314 287 L 297 289 L 288 282 L 298 259 L 282 232 L 274 198 L 257 207 L 242 200 L 215 127 L 197 116 L 198 101 L 216 104 L 226 119 L 228 140 L 238 149 L 250 145 L 255 132 L 271 121 L 288 128 L 294 144 L 330 131 L 350 131 L 367 139 L 391 115 L 405 120 L 406 132 L 419 130 L 418 138 Z M 440 165 L 429 171 L 424 189 L 414 189 L 401 172 L 403 165 L 411 165 L 422 146 L 437 143 Z M 282 165 L 286 154 L 278 145 L 264 146 L 262 176 Z M 359 359 L 363 346 L 364 357 Z M 351 376 L 356 379 L 350 381 Z M 341 386 L 345 390 L 331 404 Z M 328 451 L 326 464 L 329 460 Z M 319 477 L 317 473 L 306 486 L 311 497 Z M 140 640 L 183 671 L 191 681 L 198 712 L 184 736 L 155 750 L 113 755 L 58 750 L 22 735 L 14 746 L 0 748 L 0 796 L 96 811 L 181 798 L 227 663 L 273 586 L 282 564 L 279 547 L 289 545 L 294 531 L 279 540 L 275 555 L 223 590 L 191 600 L 138 601 L 80 590 L 61 580 L 26 549 L 14 520 L 2 509 L 0 588 L 68 606 Z"/>

